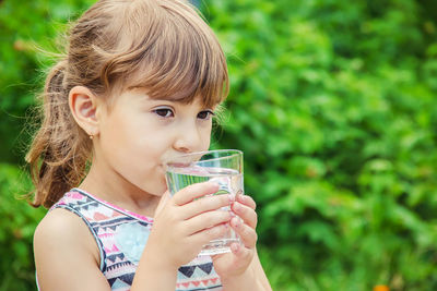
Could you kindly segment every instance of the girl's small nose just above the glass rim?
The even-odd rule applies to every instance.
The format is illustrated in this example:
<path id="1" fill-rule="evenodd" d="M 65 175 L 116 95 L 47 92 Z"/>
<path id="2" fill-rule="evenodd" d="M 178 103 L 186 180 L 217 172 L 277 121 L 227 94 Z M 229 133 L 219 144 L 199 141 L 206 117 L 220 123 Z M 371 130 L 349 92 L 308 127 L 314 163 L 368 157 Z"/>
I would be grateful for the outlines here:
<path id="1" fill-rule="evenodd" d="M 178 129 L 175 149 L 182 153 L 196 151 L 201 146 L 201 131 L 196 123 L 184 124 Z"/>

